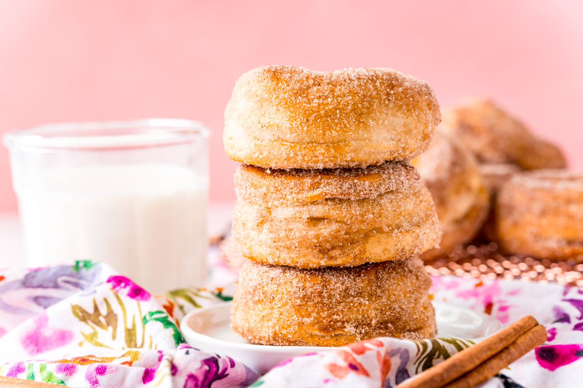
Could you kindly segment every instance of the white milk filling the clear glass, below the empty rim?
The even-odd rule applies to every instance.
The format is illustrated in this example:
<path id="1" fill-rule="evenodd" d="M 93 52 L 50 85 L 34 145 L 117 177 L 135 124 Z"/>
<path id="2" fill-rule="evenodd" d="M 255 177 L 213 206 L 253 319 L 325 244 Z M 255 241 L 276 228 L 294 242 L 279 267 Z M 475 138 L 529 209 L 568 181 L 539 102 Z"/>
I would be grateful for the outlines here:
<path id="1" fill-rule="evenodd" d="M 29 266 L 103 261 L 153 293 L 205 276 L 208 182 L 192 169 L 45 169 L 15 188 Z"/>

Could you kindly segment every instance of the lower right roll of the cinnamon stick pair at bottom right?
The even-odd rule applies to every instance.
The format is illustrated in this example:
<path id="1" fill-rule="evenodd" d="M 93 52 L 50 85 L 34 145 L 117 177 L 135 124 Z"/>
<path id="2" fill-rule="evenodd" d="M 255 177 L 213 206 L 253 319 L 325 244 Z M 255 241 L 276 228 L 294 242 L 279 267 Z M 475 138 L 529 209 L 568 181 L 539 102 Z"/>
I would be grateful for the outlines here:
<path id="1" fill-rule="evenodd" d="M 500 353 L 480 364 L 476 369 L 460 376 L 445 388 L 470 388 L 496 375 L 501 369 L 533 350 L 547 339 L 545 326 L 538 325 L 518 337 Z"/>

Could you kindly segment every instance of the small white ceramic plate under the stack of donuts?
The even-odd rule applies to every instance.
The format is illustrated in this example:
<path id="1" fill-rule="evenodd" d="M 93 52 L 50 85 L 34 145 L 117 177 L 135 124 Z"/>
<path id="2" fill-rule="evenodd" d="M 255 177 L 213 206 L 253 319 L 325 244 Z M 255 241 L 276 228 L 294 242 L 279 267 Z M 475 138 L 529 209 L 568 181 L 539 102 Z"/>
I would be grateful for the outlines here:
<path id="1" fill-rule="evenodd" d="M 467 308 L 433 302 L 436 309 L 437 336 L 482 340 L 502 328 L 493 316 Z M 266 373 L 290 357 L 333 347 L 255 345 L 233 333 L 230 328 L 231 303 L 202 308 L 187 314 L 180 323 L 184 338 L 192 347 L 209 353 L 226 354 Z"/>

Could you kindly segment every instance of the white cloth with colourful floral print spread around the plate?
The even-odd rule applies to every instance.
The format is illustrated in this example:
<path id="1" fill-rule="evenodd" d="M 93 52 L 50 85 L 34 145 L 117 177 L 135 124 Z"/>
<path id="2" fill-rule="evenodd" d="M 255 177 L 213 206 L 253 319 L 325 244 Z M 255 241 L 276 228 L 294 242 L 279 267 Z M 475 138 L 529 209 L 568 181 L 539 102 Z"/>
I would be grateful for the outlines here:
<path id="1" fill-rule="evenodd" d="M 484 387 L 583 384 L 583 290 L 441 276 L 433 278 L 432 292 L 505 324 L 532 314 L 546 325 L 547 343 Z M 193 288 L 152 296 L 89 261 L 0 270 L 0 376 L 71 387 L 394 387 L 472 344 L 374 339 L 295 357 L 259 376 L 182 338 L 178 321 L 185 313 L 229 294 Z"/>

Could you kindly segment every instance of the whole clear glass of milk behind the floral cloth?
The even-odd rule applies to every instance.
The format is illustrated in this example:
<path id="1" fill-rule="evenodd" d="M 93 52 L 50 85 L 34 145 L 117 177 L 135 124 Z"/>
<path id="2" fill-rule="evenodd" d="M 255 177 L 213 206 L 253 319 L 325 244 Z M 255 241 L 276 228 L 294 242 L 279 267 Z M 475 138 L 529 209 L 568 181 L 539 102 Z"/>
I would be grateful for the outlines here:
<path id="1" fill-rule="evenodd" d="M 9 133 L 28 266 L 102 261 L 152 293 L 206 274 L 207 139 L 180 119 Z"/>

